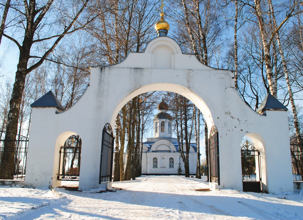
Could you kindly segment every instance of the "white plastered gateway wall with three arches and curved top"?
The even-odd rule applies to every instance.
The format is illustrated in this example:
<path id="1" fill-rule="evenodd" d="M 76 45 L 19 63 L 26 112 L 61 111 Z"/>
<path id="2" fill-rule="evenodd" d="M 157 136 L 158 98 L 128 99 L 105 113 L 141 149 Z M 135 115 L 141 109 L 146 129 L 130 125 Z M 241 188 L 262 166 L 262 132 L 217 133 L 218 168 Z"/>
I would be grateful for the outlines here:
<path id="1" fill-rule="evenodd" d="M 208 128 L 218 129 L 220 186 L 210 183 L 211 189 L 242 189 L 240 146 L 246 135 L 261 151 L 262 189 L 292 191 L 287 112 L 255 112 L 234 89 L 233 77 L 228 70 L 201 64 L 195 55 L 182 54 L 168 37 L 155 38 L 144 53 L 130 53 L 120 64 L 92 67 L 90 86 L 73 107 L 62 113 L 56 107 L 32 109 L 25 183 L 60 186 L 59 148 L 68 136 L 78 134 L 82 139 L 79 188 L 106 187 L 98 184 L 103 126 L 114 125 L 119 110 L 133 97 L 166 90 L 190 99 Z"/>

